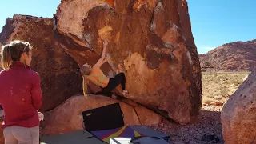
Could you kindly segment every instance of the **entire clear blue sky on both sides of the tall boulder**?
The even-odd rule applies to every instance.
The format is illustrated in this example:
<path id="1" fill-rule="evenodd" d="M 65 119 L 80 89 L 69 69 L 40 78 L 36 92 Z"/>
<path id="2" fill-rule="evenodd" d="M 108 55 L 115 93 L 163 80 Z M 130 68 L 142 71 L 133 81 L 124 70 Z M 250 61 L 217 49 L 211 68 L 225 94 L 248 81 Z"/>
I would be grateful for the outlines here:
<path id="1" fill-rule="evenodd" d="M 52 17 L 61 0 L 4 0 L 0 30 L 14 14 Z M 187 0 L 198 53 L 227 42 L 256 39 L 256 0 Z"/>

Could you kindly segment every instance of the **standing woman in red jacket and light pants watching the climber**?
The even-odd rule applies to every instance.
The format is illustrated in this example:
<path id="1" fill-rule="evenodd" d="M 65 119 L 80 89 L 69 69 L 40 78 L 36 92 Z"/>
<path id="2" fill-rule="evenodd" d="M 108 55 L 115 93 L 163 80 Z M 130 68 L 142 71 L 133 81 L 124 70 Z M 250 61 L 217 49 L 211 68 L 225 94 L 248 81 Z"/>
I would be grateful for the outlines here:
<path id="1" fill-rule="evenodd" d="M 39 144 L 38 109 L 42 106 L 39 75 L 30 69 L 32 47 L 14 41 L 2 46 L 0 103 L 5 112 L 6 144 Z"/>

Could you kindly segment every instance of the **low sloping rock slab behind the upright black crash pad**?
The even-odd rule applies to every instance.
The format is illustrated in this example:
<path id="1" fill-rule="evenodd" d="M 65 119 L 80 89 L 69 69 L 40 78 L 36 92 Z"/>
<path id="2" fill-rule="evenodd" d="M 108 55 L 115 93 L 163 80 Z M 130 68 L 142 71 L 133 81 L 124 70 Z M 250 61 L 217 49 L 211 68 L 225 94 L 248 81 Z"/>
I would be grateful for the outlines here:
<path id="1" fill-rule="evenodd" d="M 61 134 L 74 130 L 83 130 L 82 112 L 101 106 L 120 103 L 126 125 L 158 125 L 162 117 L 134 102 L 120 102 L 113 98 L 90 94 L 88 99 L 84 96 L 74 96 L 62 105 L 45 114 L 42 123 L 42 135 Z"/>

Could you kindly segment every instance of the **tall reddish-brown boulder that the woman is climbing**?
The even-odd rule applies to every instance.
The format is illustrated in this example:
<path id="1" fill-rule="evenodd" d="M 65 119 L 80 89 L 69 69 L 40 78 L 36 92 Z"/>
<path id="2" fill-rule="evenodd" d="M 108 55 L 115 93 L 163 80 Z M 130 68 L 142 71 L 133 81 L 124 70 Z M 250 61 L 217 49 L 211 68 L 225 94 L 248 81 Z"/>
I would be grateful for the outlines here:
<path id="1" fill-rule="evenodd" d="M 110 77 L 126 72 L 127 98 L 181 124 L 201 108 L 201 70 L 186 0 L 62 0 L 58 42 L 81 66 L 94 65 L 109 41 Z"/>

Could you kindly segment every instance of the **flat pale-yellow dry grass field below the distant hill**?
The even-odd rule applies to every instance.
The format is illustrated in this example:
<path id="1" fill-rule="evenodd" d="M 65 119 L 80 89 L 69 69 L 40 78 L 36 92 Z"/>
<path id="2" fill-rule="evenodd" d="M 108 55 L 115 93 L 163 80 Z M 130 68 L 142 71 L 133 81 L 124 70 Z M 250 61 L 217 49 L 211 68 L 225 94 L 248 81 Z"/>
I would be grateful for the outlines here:
<path id="1" fill-rule="evenodd" d="M 249 72 L 203 72 L 202 103 L 207 105 L 214 102 L 225 103 L 248 74 Z"/>

